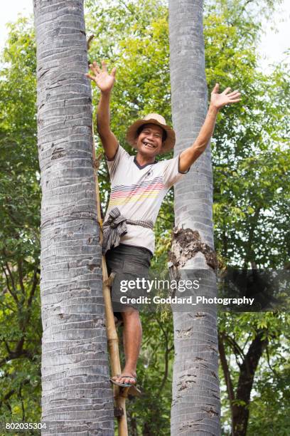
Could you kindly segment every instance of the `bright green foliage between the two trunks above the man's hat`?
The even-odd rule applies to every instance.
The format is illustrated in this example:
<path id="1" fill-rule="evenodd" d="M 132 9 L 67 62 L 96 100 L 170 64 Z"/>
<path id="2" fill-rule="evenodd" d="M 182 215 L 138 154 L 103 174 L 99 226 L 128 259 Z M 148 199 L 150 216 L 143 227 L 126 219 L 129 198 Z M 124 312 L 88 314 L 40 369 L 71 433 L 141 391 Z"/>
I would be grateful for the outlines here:
<path id="1" fill-rule="evenodd" d="M 129 123 L 139 115 L 157 111 L 170 122 L 168 11 L 156 0 L 113 3 L 101 8 L 87 2 L 86 23 L 87 34 L 96 35 L 90 58 L 117 66 L 112 129 L 124 143 Z M 97 94 L 95 87 L 96 99 Z"/>

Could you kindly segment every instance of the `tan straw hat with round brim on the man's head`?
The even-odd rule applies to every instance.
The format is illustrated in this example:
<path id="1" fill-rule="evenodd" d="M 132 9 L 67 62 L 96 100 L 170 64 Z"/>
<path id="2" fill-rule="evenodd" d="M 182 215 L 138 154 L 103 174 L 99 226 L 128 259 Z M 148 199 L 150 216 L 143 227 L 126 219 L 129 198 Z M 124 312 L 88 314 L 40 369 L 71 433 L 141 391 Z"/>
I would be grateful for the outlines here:
<path id="1" fill-rule="evenodd" d="M 127 130 L 126 139 L 132 147 L 136 148 L 135 141 L 137 137 L 137 130 L 139 127 L 141 127 L 141 125 L 144 124 L 156 124 L 163 128 L 163 130 L 166 131 L 167 137 L 163 142 L 161 153 L 166 153 L 169 150 L 172 150 L 176 142 L 175 132 L 173 129 L 171 129 L 171 127 L 166 125 L 166 120 L 158 113 L 149 113 L 146 115 L 146 117 L 142 118 L 141 120 L 136 120 L 135 123 L 130 125 L 129 129 Z"/>

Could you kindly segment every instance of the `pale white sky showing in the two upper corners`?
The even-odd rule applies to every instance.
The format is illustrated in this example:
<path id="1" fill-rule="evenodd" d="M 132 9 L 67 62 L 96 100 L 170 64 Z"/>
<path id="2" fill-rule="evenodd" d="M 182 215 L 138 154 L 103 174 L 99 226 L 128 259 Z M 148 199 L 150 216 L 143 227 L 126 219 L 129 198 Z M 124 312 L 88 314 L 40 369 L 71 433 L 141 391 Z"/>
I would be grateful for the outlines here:
<path id="1" fill-rule="evenodd" d="M 1 8 L 0 15 L 0 51 L 4 47 L 8 21 L 15 21 L 18 14 L 29 15 L 33 14 L 33 0 L 13 0 L 5 2 L 5 6 Z M 268 70 L 272 63 L 286 60 L 284 53 L 289 49 L 290 41 L 290 1 L 284 0 L 279 6 L 279 12 L 273 16 L 274 24 L 279 28 L 279 32 L 271 29 L 271 24 L 264 23 L 265 34 L 259 44 L 259 53 L 262 56 L 260 66 Z"/>

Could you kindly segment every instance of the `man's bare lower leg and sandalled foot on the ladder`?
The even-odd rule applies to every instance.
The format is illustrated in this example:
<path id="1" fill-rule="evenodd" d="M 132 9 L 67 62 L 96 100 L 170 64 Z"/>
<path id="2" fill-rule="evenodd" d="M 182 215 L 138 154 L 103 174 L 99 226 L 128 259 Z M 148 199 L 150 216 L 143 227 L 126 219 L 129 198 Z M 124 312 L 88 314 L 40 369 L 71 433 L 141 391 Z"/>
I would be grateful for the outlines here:
<path id="1" fill-rule="evenodd" d="M 134 308 L 122 312 L 123 318 L 123 343 L 126 364 L 120 375 L 132 375 L 136 377 L 136 366 L 142 340 L 142 326 L 139 312 Z M 134 378 L 119 378 L 116 375 L 112 378 L 119 383 L 135 384 Z"/>

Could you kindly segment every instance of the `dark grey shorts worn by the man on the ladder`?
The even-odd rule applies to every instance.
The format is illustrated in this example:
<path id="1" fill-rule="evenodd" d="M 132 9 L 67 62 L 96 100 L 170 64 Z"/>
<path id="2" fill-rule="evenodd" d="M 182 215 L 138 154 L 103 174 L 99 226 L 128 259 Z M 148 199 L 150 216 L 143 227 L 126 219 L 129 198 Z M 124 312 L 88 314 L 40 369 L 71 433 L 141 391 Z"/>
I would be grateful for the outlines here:
<path id="1" fill-rule="evenodd" d="M 126 296 L 127 299 L 131 299 L 147 295 L 146 289 L 141 286 L 141 280 L 149 279 L 151 258 L 151 251 L 142 246 L 120 244 L 114 249 L 107 251 L 106 261 L 108 274 L 111 274 L 111 272 L 116 273 L 112 284 L 111 296 L 114 315 L 117 316 L 117 318 L 122 319 L 120 313 L 128 310 L 128 308 L 139 310 L 140 304 L 131 302 L 121 303 L 120 299 L 124 296 Z M 136 286 L 134 286 L 133 289 L 124 291 L 124 289 L 127 288 L 126 283 L 128 283 L 128 281 L 134 281 Z M 142 283 L 144 283 L 144 281 Z M 121 289 L 123 289 L 123 292 Z"/>

